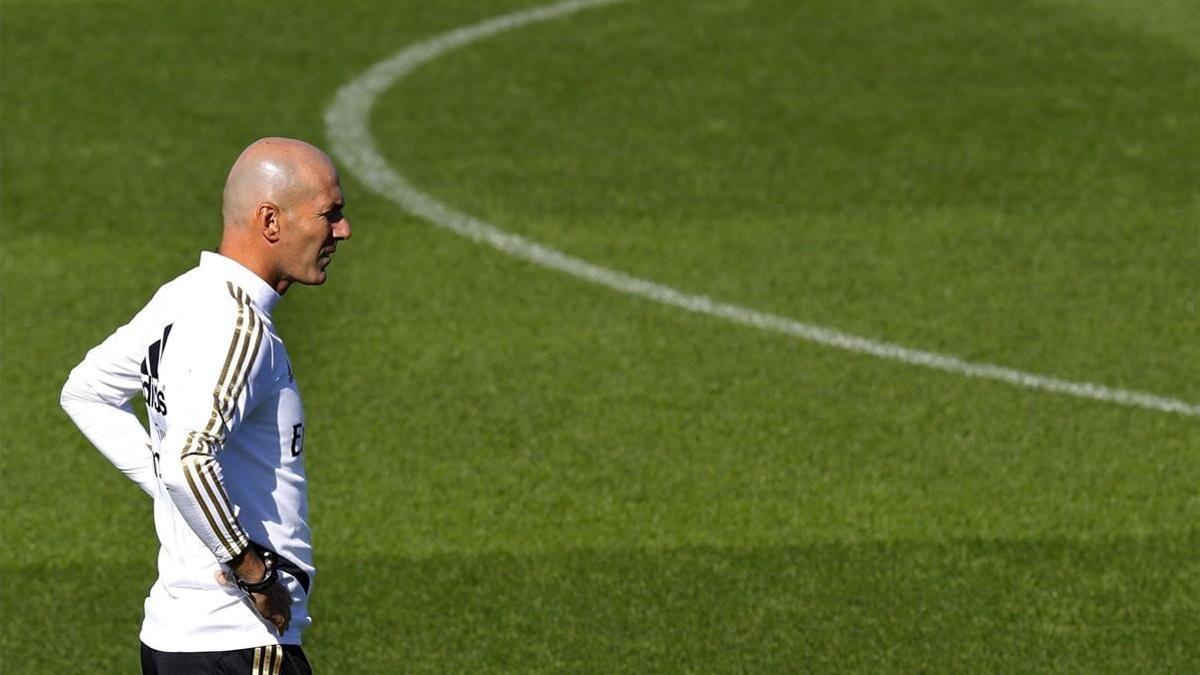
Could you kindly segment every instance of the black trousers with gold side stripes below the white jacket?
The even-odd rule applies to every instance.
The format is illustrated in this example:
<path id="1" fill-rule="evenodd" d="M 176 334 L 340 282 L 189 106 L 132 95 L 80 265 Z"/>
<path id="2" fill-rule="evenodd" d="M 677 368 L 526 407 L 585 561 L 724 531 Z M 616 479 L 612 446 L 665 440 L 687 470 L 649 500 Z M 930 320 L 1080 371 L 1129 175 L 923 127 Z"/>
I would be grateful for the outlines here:
<path id="1" fill-rule="evenodd" d="M 299 645 L 174 652 L 142 645 L 143 675 L 312 675 Z"/>

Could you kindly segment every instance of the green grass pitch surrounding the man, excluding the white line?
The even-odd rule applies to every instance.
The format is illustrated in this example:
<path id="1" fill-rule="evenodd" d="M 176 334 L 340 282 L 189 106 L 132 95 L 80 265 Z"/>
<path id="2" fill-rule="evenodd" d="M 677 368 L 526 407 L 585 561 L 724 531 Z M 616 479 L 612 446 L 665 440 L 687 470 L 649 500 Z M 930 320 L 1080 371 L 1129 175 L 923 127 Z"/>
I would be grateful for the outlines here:
<path id="1" fill-rule="evenodd" d="M 260 136 L 520 1 L 5 0 L 0 671 L 137 670 L 150 504 L 58 393 Z M 646 0 L 445 54 L 420 189 L 689 293 L 1200 402 L 1200 6 Z M 320 673 L 1200 668 L 1200 418 L 965 378 L 506 257 L 343 175 L 275 312 Z"/>

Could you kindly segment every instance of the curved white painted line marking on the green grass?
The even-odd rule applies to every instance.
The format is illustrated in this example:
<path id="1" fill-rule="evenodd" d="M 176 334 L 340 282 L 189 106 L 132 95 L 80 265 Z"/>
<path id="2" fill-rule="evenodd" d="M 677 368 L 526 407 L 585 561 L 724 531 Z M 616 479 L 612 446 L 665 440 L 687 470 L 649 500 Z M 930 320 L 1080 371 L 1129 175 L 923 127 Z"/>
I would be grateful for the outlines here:
<path id="1" fill-rule="evenodd" d="M 967 362 L 952 354 L 938 354 L 902 347 L 892 342 L 868 340 L 866 338 L 850 335 L 832 328 L 802 323 L 784 316 L 719 303 L 706 295 L 684 293 L 661 283 L 637 279 L 622 271 L 574 258 L 542 246 L 536 241 L 504 232 L 494 225 L 443 204 L 430 195 L 421 192 L 402 175 L 392 171 L 388 166 L 388 161 L 376 150 L 374 141 L 367 126 L 371 108 L 382 92 L 395 85 L 418 66 L 446 52 L 516 28 L 546 22 L 578 12 L 580 10 L 622 1 L 624 0 L 568 0 L 565 2 L 494 17 L 401 49 L 389 59 L 371 66 L 361 76 L 338 89 L 334 103 L 325 113 L 325 126 L 332 142 L 334 154 L 346 165 L 350 173 L 370 189 L 438 227 L 487 244 L 510 256 L 601 286 L 607 286 L 622 293 L 672 305 L 690 312 L 720 317 L 762 330 L 782 333 L 818 345 L 870 354 L 882 359 L 922 365 L 967 377 L 998 380 L 1016 384 L 1018 387 L 1068 394 L 1082 399 L 1094 399 L 1124 406 L 1200 417 L 1200 404 L 1189 404 L 1141 392 L 1114 389 L 1100 384 L 1092 384 L 1091 382 L 1070 382 L 986 363 Z"/>

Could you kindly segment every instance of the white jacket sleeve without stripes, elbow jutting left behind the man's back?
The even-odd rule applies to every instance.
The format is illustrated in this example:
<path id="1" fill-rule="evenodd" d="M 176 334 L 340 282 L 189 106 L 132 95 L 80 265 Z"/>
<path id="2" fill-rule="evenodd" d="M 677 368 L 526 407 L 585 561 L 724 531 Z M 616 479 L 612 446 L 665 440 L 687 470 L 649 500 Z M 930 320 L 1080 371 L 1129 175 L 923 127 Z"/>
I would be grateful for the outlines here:
<path id="1" fill-rule="evenodd" d="M 130 400 L 142 390 L 138 317 L 88 352 L 62 386 L 59 402 L 108 461 L 148 495 L 155 492 L 150 437 Z"/>

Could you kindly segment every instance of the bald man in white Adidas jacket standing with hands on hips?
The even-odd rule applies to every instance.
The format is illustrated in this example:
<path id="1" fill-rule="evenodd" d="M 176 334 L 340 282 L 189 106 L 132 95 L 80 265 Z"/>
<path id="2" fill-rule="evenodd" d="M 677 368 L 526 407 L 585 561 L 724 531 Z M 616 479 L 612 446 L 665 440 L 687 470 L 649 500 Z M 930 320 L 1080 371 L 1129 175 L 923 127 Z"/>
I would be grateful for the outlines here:
<path id="1" fill-rule="evenodd" d="M 302 141 L 251 144 L 223 197 L 218 251 L 88 352 L 61 404 L 154 498 L 143 673 L 311 673 L 306 422 L 271 311 L 325 282 L 350 223 L 334 163 Z"/>

